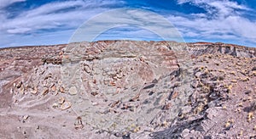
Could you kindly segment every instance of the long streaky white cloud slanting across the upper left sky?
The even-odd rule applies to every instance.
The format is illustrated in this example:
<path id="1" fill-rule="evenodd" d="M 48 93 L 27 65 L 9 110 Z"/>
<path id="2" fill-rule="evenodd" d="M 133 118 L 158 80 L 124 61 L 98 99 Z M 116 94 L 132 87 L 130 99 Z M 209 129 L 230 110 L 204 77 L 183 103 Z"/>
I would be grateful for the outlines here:
<path id="1" fill-rule="evenodd" d="M 113 4 L 112 1 L 86 1 L 85 3 L 82 0 L 48 3 L 39 8 L 23 12 L 15 17 L 15 19 L 3 19 L 4 24 L 0 26 L 0 31 L 15 34 L 42 29 L 55 29 L 60 26 L 74 28 L 91 16 L 108 10 L 104 6 L 111 4 Z M 98 7 L 95 8 L 92 5 L 97 5 Z M 67 8 L 75 9 L 65 11 Z M 58 12 L 60 10 L 63 11 Z"/>

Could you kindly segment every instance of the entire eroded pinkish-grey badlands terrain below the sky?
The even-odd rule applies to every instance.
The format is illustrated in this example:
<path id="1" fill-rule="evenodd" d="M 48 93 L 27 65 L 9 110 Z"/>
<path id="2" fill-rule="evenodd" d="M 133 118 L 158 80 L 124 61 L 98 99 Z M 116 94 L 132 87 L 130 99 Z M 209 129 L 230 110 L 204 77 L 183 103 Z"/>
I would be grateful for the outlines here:
<path id="1" fill-rule="evenodd" d="M 135 41 L 1 49 L 0 136 L 221 137 L 244 126 L 250 136 L 255 120 L 231 119 L 254 113 L 255 50 Z"/>

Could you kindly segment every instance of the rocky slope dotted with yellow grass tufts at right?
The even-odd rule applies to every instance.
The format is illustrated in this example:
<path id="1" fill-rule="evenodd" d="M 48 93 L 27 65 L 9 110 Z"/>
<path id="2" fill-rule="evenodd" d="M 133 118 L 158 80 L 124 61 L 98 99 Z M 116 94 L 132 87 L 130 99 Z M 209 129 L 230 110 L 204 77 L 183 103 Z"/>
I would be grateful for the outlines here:
<path id="1" fill-rule="evenodd" d="M 194 61 L 186 112 L 154 138 L 254 138 L 255 58 L 204 54 Z"/>

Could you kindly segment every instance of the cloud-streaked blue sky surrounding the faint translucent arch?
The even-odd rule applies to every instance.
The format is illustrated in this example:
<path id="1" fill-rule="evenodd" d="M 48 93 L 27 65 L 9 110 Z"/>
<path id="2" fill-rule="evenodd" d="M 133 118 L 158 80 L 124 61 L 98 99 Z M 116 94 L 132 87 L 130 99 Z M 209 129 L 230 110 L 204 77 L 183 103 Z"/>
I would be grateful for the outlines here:
<path id="1" fill-rule="evenodd" d="M 256 47 L 255 0 L 0 0 L 0 47 L 68 43 L 85 21 L 116 8 L 141 8 L 160 14 L 185 42 Z M 158 41 L 160 36 L 124 26 L 96 38 L 106 39 Z"/>

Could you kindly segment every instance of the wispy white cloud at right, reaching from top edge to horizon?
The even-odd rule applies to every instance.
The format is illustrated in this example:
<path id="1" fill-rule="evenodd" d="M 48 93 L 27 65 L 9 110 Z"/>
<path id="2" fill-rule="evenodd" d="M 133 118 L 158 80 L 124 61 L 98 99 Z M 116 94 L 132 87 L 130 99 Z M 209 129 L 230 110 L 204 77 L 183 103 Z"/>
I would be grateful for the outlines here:
<path id="1" fill-rule="evenodd" d="M 207 13 L 190 14 L 190 17 L 169 16 L 168 19 L 183 32 L 184 37 L 219 39 L 256 43 L 256 21 L 247 19 L 241 12 L 250 12 L 245 5 L 228 0 L 178 0 L 204 8 Z M 185 30 L 184 30 L 185 29 Z"/>

